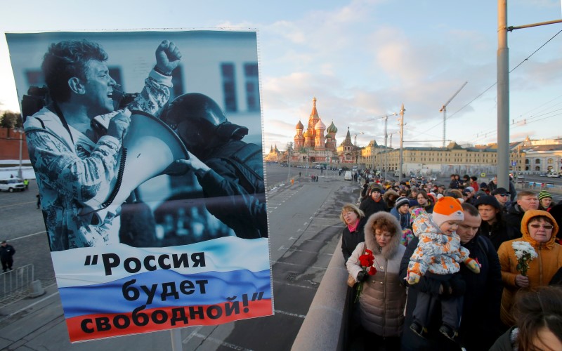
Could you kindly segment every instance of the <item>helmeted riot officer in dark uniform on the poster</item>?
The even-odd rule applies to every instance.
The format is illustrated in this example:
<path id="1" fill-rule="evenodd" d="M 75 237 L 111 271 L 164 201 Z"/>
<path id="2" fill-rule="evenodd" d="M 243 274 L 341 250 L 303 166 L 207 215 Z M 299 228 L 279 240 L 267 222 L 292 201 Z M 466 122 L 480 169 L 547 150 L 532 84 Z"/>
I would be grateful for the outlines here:
<path id="1" fill-rule="evenodd" d="M 261 147 L 242 141 L 248 128 L 230 123 L 207 95 L 188 93 L 162 112 L 187 147 L 189 159 L 176 161 L 195 173 L 207 210 L 237 237 L 268 237 Z"/>

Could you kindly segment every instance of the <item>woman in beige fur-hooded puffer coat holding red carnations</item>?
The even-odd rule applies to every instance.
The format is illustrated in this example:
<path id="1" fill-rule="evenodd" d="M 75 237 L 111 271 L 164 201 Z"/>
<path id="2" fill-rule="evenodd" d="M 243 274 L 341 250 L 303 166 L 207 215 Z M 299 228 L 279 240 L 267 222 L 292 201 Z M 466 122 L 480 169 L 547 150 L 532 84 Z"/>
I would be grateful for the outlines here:
<path id="1" fill-rule="evenodd" d="M 358 300 L 361 326 L 366 333 L 384 338 L 388 350 L 400 348 L 404 323 L 406 289 L 398 270 L 406 248 L 400 245 L 401 235 L 400 223 L 394 216 L 382 211 L 374 213 L 365 224 L 365 243 L 358 244 L 346 264 L 355 280 L 363 282 Z M 365 273 L 358 262 L 365 249 L 373 253 L 374 275 Z"/>

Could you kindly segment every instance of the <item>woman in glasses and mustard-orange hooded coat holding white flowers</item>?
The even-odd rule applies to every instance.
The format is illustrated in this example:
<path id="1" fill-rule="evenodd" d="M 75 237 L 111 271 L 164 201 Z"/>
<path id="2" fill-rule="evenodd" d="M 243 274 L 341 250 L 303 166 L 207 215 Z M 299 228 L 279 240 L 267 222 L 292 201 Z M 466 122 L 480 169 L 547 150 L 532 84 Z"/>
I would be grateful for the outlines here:
<path id="1" fill-rule="evenodd" d="M 555 241 L 558 225 L 550 213 L 540 210 L 526 211 L 521 220 L 521 232 L 523 237 L 504 241 L 497 251 L 504 282 L 500 313 L 502 322 L 507 326 L 515 324 L 511 309 L 516 293 L 548 285 L 558 268 L 562 267 L 562 246 Z M 513 247 L 517 241 L 528 242 L 537 253 L 537 257 L 528 262 L 526 274 L 521 273 Z"/>

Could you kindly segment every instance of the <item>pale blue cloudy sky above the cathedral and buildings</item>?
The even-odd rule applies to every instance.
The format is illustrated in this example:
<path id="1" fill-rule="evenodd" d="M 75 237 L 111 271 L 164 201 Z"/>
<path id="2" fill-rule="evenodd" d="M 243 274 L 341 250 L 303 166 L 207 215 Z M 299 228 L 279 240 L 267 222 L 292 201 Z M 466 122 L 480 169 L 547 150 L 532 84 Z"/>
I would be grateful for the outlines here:
<path id="1" fill-rule="evenodd" d="M 559 20 L 561 10 L 561 0 L 509 0 L 508 25 Z M 257 29 L 266 150 L 285 149 L 314 97 L 322 121 L 339 129 L 338 143 L 349 128 L 360 146 L 384 144 L 384 115 L 404 104 L 404 145 L 440 146 L 440 107 L 464 82 L 447 105 L 446 139 L 496 141 L 493 0 L 0 0 L 0 13 L 1 32 Z M 508 34 L 512 141 L 562 135 L 561 31 L 555 24 Z M 19 111 L 4 35 L 0 77 L 0 110 Z M 393 147 L 398 130 L 388 117 Z"/>

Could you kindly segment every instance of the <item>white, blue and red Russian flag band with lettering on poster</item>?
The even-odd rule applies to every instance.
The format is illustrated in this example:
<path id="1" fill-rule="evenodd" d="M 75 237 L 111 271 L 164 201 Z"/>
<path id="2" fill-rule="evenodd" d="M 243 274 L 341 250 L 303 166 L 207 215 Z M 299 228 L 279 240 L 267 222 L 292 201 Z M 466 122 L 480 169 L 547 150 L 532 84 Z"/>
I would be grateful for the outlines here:
<path id="1" fill-rule="evenodd" d="M 51 256 L 72 342 L 273 314 L 268 239 Z"/>

